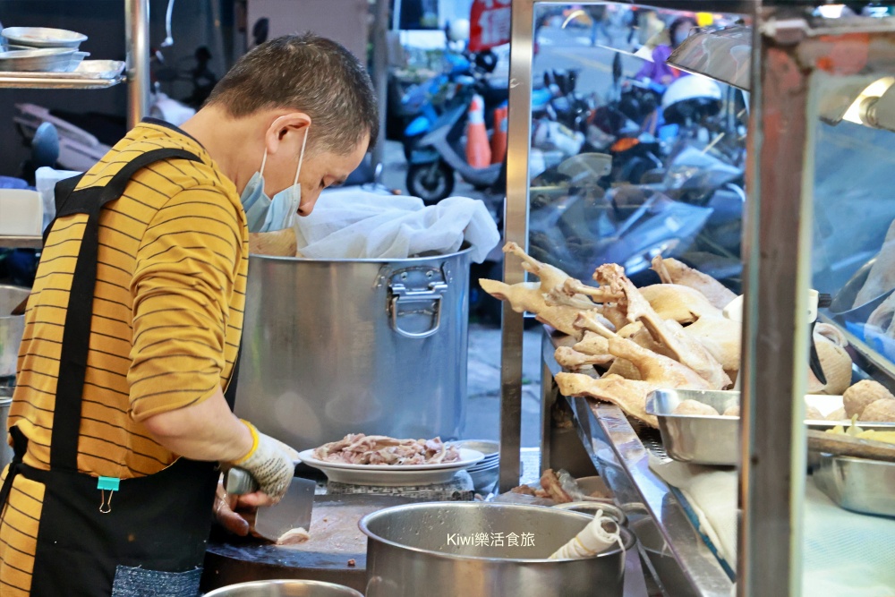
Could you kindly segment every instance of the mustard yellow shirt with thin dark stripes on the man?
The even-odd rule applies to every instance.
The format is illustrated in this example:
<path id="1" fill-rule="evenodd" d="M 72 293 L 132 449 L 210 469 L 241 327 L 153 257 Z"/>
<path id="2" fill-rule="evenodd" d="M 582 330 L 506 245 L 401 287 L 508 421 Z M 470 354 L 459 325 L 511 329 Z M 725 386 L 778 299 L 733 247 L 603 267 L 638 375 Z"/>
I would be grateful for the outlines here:
<path id="1" fill-rule="evenodd" d="M 100 215 L 98 271 L 83 391 L 78 468 L 127 479 L 176 455 L 141 421 L 226 388 L 243 326 L 248 230 L 234 184 L 174 127 L 136 126 L 81 180 L 101 186 L 151 149 L 191 151 L 132 177 Z M 55 223 L 25 315 L 9 425 L 29 439 L 27 465 L 47 469 L 65 306 L 87 217 Z M 27 594 L 43 486 L 21 475 L 0 525 L 0 593 Z"/>

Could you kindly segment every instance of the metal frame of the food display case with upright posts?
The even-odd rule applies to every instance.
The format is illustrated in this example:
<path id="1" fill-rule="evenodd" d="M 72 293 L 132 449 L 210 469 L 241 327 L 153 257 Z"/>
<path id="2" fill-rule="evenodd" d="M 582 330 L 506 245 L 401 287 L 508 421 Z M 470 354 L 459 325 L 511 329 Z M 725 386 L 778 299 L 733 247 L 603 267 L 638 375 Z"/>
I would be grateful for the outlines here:
<path id="1" fill-rule="evenodd" d="M 523 247 L 528 244 L 533 11 L 535 5 L 541 4 L 568 3 L 513 2 L 505 221 L 506 240 Z M 871 69 L 895 65 L 895 19 L 823 21 L 805 10 L 814 4 L 817 3 L 643 3 L 685 11 L 746 13 L 752 17 L 754 27 L 749 201 L 743 238 L 746 300 L 738 494 L 742 514 L 737 542 L 737 594 L 741 596 L 801 594 L 806 468 L 801 404 L 808 361 L 807 291 L 811 286 L 814 184 L 814 123 L 809 118 L 817 115 L 812 77 L 815 72 L 852 67 L 848 64 L 848 52 L 837 46 L 844 35 L 866 52 L 863 65 Z M 895 69 L 888 73 L 892 72 Z M 507 284 L 524 280 L 518 260 L 507 259 L 504 272 Z M 507 490 L 518 479 L 522 323 L 523 316 L 505 303 L 501 490 Z M 550 371 L 546 356 L 544 362 L 546 374 Z M 542 384 L 548 388 L 546 382 Z M 588 422 L 592 431 L 592 423 L 599 428 L 599 433 L 582 436 L 585 448 L 598 439 L 611 445 L 627 479 L 638 487 L 650 514 L 663 525 L 665 519 L 658 510 L 665 498 L 659 500 L 660 494 L 650 495 L 649 486 L 655 475 L 644 468 L 643 442 L 630 431 L 626 418 L 615 413 L 618 409 L 612 406 L 587 408 L 582 399 L 571 400 L 570 404 L 579 426 Z M 762 422 L 760 432 L 756 422 Z M 661 486 L 667 488 L 664 483 Z M 671 551 L 688 577 L 688 589 L 700 595 L 722 594 L 724 584 L 717 570 L 706 566 L 696 571 L 695 567 L 701 567 L 703 562 L 695 559 L 692 544 L 681 542 L 686 533 L 681 532 L 678 515 L 672 508 L 669 520 L 674 521 L 672 526 L 677 530 L 665 525 L 663 533 L 669 541 L 678 542 Z M 729 585 L 727 589 L 729 594 Z"/>

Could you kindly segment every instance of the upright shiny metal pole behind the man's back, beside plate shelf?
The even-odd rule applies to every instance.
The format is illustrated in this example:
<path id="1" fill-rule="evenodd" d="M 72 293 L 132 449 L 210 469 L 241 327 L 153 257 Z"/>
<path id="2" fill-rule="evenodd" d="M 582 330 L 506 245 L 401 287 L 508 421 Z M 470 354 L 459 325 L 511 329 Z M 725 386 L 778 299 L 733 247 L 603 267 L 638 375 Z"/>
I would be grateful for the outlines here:
<path id="1" fill-rule="evenodd" d="M 127 125 L 149 114 L 149 0 L 125 0 Z"/>

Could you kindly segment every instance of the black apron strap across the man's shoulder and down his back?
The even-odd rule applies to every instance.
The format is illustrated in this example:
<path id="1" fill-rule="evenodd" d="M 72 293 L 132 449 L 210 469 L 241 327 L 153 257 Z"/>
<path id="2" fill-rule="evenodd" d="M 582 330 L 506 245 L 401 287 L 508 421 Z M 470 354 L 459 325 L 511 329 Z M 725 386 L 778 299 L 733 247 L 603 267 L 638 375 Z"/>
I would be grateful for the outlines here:
<path id="1" fill-rule="evenodd" d="M 56 385 L 53 432 L 50 442 L 50 468 L 78 470 L 78 439 L 81 435 L 81 398 L 87 375 L 90 352 L 90 326 L 93 316 L 93 294 L 97 283 L 99 250 L 99 213 L 109 201 L 124 193 L 131 177 L 155 162 L 183 158 L 200 158 L 183 149 L 153 149 L 125 164 L 105 186 L 70 191 L 58 201 L 56 218 L 87 214 L 87 226 L 81 238 L 81 250 L 74 266 L 72 289 L 65 312 L 62 350 L 59 356 L 59 379 Z M 72 183 L 68 180 L 62 191 Z M 76 184 L 76 183 L 75 183 Z"/>

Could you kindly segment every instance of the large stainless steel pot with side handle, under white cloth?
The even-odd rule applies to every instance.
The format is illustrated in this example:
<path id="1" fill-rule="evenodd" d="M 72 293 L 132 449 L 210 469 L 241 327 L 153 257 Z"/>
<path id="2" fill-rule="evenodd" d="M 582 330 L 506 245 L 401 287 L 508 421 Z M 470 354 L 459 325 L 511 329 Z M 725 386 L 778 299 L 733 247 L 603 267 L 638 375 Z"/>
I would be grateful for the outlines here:
<path id="1" fill-rule="evenodd" d="M 236 412 L 294 448 L 364 432 L 459 436 L 469 252 L 252 255 Z"/>

